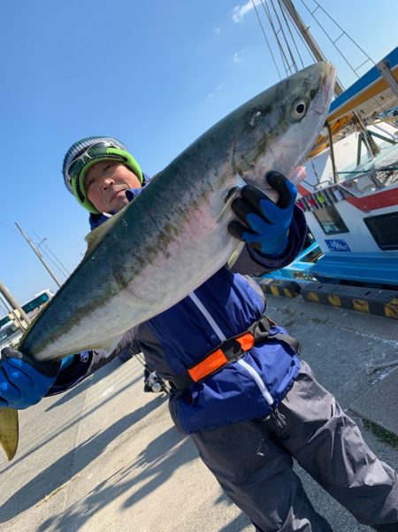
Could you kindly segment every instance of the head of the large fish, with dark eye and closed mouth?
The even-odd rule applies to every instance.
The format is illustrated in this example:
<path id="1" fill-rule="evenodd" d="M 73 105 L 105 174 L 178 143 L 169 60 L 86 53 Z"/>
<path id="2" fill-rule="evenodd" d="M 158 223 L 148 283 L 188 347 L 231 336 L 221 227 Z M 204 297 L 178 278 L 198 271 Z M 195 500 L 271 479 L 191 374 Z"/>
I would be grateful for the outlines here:
<path id="1" fill-rule="evenodd" d="M 319 62 L 242 105 L 234 116 L 235 173 L 264 191 L 269 189 L 264 175 L 270 170 L 294 178 L 325 125 L 334 78 L 334 67 Z"/>

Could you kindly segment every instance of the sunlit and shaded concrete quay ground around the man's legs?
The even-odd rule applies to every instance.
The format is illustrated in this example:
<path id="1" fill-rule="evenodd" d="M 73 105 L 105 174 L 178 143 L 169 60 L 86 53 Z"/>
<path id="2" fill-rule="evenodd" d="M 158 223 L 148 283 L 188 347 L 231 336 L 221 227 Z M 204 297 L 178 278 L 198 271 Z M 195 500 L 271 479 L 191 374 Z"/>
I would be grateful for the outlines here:
<path id="1" fill-rule="evenodd" d="M 318 381 L 355 412 L 379 458 L 398 469 L 398 449 L 363 425 L 364 412 L 385 428 L 397 418 L 398 369 L 366 372 L 398 359 L 396 321 L 299 297 L 270 296 L 268 312 L 301 339 L 302 358 Z M 254 531 L 189 438 L 172 427 L 167 397 L 143 393 L 142 373 L 136 359 L 115 360 L 75 389 L 20 412 L 19 451 L 11 463 L 0 461 L 0 530 Z M 334 531 L 370 530 L 295 468 Z"/>

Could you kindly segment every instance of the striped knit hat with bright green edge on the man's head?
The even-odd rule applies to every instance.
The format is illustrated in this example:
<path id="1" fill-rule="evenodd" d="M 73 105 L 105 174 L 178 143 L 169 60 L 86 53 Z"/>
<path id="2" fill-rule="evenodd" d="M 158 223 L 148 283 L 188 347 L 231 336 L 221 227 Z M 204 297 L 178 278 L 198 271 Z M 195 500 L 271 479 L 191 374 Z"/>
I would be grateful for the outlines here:
<path id="1" fill-rule="evenodd" d="M 88 169 L 102 160 L 120 159 L 143 181 L 141 166 L 137 163 L 126 146 L 111 136 L 88 136 L 74 143 L 67 150 L 62 173 L 66 188 L 89 212 L 98 213 L 96 207 L 86 197 L 84 176 Z"/>

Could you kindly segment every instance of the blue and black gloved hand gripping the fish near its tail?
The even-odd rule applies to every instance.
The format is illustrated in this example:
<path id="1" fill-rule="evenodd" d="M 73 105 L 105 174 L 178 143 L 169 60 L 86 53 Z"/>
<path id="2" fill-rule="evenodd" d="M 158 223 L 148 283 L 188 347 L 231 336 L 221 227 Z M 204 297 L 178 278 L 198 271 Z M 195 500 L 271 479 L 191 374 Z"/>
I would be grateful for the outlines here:
<path id="1" fill-rule="evenodd" d="M 37 362 L 11 347 L 1 354 L 0 406 L 22 410 L 35 405 L 57 380 L 60 361 Z"/>

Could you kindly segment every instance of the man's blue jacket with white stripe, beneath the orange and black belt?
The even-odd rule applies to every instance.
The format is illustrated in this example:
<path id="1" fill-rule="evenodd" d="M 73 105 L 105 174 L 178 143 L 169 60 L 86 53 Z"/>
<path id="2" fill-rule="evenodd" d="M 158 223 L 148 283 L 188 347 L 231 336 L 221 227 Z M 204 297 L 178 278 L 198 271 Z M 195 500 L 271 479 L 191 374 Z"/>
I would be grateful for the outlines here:
<path id="1" fill-rule="evenodd" d="M 126 195 L 131 201 L 140 190 Z M 107 218 L 90 216 L 95 228 Z M 302 248 L 306 224 L 295 207 L 287 250 L 280 258 L 266 258 L 246 246 L 233 269 L 222 267 L 202 286 L 173 305 L 127 331 L 110 357 L 93 351 L 61 372 L 49 395 L 64 391 L 116 357 L 133 341 L 142 349 L 151 369 L 168 380 L 203 359 L 219 343 L 246 331 L 265 311 L 264 293 L 247 275 L 261 275 L 289 264 Z M 285 332 L 277 326 L 272 334 Z M 172 420 L 185 434 L 226 424 L 263 418 L 291 388 L 300 369 L 297 354 L 279 340 L 256 345 L 244 356 L 189 389 L 176 392 L 169 402 Z"/>

